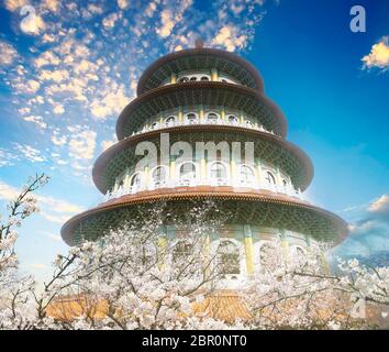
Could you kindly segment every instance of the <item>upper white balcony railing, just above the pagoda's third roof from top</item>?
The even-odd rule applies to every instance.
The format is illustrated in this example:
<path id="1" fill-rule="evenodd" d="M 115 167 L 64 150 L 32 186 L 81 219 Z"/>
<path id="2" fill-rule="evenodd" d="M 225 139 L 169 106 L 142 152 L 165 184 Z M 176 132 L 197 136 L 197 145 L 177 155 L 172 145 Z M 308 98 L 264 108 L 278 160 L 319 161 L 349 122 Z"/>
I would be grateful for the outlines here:
<path id="1" fill-rule="evenodd" d="M 232 125 L 232 127 L 237 127 L 237 128 L 245 128 L 245 129 L 251 129 L 255 131 L 260 131 L 265 133 L 269 133 L 275 135 L 273 131 L 266 130 L 263 125 L 257 125 L 251 122 L 238 122 L 238 121 L 227 121 L 227 120 L 222 120 L 222 119 L 215 119 L 215 120 L 210 120 L 210 119 L 196 119 L 196 120 L 184 120 L 184 121 L 169 121 L 169 122 L 154 122 L 152 125 L 144 127 L 141 131 L 133 132 L 131 136 L 142 134 L 145 132 L 149 131 L 156 131 L 156 130 L 163 130 L 163 129 L 168 129 L 173 127 L 181 127 L 181 125 L 194 125 L 194 124 L 203 124 L 203 125 Z"/>

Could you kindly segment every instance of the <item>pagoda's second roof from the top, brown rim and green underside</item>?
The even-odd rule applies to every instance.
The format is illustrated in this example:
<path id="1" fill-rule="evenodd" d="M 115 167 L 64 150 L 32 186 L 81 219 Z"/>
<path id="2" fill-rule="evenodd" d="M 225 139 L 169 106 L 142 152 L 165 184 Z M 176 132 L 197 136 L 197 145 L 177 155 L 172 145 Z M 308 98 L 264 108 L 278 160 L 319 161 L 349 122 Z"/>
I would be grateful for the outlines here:
<path id="1" fill-rule="evenodd" d="M 193 81 L 152 89 L 129 103 L 116 122 L 119 140 L 137 131 L 147 119 L 178 107 L 224 107 L 256 118 L 267 130 L 282 138 L 287 120 L 280 108 L 258 90 L 219 81 Z"/>

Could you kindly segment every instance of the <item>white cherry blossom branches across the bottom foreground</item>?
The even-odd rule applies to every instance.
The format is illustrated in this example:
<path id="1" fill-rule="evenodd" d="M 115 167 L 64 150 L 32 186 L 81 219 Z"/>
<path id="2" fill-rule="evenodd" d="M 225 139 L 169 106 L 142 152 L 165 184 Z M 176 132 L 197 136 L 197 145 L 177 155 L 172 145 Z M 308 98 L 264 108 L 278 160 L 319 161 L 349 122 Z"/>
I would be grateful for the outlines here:
<path id="1" fill-rule="evenodd" d="M 274 241 L 240 288 L 249 318 L 218 320 L 198 309 L 223 289 L 225 263 L 210 239 L 229 215 L 212 201 L 176 218 L 164 204 L 141 209 L 120 229 L 58 255 L 38 289 L 19 273 L 14 243 L 15 229 L 37 211 L 32 193 L 46 180 L 32 179 L 0 227 L 0 329 L 358 329 L 375 326 L 355 318 L 355 297 L 389 306 L 388 267 L 352 260 L 331 272 L 323 244 L 298 253 Z M 177 229 L 171 237 L 160 231 L 167 218 Z"/>

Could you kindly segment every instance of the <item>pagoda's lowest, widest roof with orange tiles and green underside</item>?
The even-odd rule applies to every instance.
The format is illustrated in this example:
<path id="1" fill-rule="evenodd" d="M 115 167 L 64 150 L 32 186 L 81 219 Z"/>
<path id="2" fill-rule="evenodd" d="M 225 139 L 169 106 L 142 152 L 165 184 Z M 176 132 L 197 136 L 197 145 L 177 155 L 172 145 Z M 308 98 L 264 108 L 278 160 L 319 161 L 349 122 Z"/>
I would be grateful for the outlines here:
<path id="1" fill-rule="evenodd" d="M 346 223 L 336 215 L 305 201 L 269 191 L 241 191 L 231 187 L 181 187 L 146 190 L 101 204 L 68 220 L 62 237 L 69 244 L 97 240 L 102 233 L 142 218 L 149 207 L 166 207 L 166 213 L 189 213 L 201 201 L 213 200 L 231 213 L 227 223 L 248 223 L 311 235 L 318 241 L 338 243 L 347 234 Z M 231 210 L 231 211 L 230 211 Z M 166 217 L 166 224 L 174 219 Z"/>

